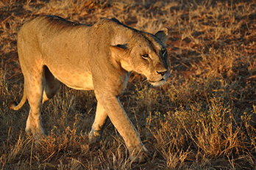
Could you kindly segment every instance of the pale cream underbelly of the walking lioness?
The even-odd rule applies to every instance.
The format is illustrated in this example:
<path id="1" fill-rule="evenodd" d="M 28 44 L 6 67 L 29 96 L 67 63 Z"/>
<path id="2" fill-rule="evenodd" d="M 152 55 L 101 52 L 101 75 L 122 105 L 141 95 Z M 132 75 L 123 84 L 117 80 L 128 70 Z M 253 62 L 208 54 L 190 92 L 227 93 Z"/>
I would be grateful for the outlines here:
<path id="1" fill-rule="evenodd" d="M 55 70 L 49 68 L 51 73 L 72 89 L 81 89 L 81 90 L 93 90 L 93 78 L 90 73 L 78 73 L 74 70 Z"/>

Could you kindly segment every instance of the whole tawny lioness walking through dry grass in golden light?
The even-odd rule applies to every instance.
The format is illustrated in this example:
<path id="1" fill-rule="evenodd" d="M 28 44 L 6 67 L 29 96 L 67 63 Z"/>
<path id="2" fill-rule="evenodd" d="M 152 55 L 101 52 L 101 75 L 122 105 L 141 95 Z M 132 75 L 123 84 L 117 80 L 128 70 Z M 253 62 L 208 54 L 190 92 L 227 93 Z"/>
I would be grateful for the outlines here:
<path id="1" fill-rule="evenodd" d="M 168 78 L 166 42 L 168 29 L 149 34 L 132 29 L 115 18 L 93 26 L 40 16 L 18 32 L 18 57 L 24 75 L 24 95 L 10 108 L 18 110 L 29 101 L 26 132 L 35 139 L 43 135 L 40 110 L 63 83 L 73 89 L 94 90 L 96 117 L 89 133 L 90 143 L 99 141 L 107 117 L 124 138 L 131 158 L 143 161 L 148 150 L 127 117 L 118 96 L 130 72 L 146 75 L 159 86 Z"/>

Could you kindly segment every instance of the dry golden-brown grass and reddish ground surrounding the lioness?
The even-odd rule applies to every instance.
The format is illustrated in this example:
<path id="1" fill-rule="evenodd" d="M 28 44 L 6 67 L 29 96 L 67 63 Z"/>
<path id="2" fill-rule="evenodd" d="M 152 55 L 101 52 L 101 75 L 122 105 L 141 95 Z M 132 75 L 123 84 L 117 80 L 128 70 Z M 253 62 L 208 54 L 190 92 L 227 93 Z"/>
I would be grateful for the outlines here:
<path id="1" fill-rule="evenodd" d="M 0 169 L 255 169 L 255 1 L 0 1 Z M 118 18 L 147 32 L 170 29 L 172 75 L 163 87 L 132 74 L 121 102 L 152 160 L 136 164 L 110 121 L 89 147 L 93 92 L 62 86 L 43 106 L 48 139 L 35 146 L 24 127 L 16 35 L 35 15 L 95 23 Z"/>

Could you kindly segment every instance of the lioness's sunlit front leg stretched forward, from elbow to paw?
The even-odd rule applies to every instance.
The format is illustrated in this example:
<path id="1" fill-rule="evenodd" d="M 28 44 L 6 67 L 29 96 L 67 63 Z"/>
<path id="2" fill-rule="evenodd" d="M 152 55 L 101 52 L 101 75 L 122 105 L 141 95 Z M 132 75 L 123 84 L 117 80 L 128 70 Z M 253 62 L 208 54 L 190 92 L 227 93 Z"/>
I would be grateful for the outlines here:
<path id="1" fill-rule="evenodd" d="M 148 150 L 141 142 L 138 131 L 127 117 L 118 97 L 97 97 L 97 100 L 98 103 L 102 103 L 104 109 L 107 111 L 107 116 L 110 117 L 118 133 L 124 138 L 131 159 L 142 162 L 148 158 Z"/>

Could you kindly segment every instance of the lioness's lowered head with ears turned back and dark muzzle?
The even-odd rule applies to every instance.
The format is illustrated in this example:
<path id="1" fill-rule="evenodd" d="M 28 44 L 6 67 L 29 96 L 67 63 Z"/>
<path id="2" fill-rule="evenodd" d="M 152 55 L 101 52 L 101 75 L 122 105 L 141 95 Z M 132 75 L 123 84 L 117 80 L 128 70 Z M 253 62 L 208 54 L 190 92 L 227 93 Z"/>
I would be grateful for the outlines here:
<path id="1" fill-rule="evenodd" d="M 135 32 L 127 44 L 110 46 L 110 50 L 119 56 L 121 67 L 127 71 L 135 71 L 146 75 L 149 83 L 160 86 L 168 78 L 168 54 L 166 42 L 168 29 L 149 34 Z"/>

